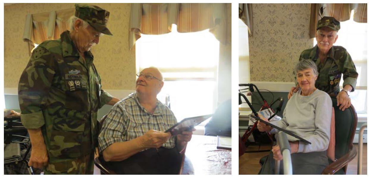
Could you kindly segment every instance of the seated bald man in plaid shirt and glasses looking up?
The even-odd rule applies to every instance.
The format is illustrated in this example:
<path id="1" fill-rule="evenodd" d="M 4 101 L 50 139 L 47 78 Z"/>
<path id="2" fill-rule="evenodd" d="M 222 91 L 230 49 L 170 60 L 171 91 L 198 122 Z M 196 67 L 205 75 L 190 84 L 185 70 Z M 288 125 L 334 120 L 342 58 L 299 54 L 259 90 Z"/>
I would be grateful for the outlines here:
<path id="1" fill-rule="evenodd" d="M 142 70 L 136 93 L 117 102 L 102 124 L 99 153 L 117 174 L 177 174 L 180 154 L 192 131 L 176 137 L 163 131 L 177 123 L 173 112 L 156 95 L 163 87 L 157 68 Z"/>

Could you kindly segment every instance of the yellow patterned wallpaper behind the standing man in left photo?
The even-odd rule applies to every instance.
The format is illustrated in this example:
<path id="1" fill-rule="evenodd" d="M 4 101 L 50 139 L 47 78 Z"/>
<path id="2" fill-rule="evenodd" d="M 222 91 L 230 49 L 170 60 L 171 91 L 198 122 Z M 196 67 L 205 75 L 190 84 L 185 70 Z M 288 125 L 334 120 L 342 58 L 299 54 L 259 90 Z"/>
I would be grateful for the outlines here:
<path id="1" fill-rule="evenodd" d="M 135 89 L 135 50 L 128 51 L 130 4 L 96 4 L 110 11 L 108 28 L 113 36 L 104 35 L 91 51 L 101 76 L 103 89 Z M 28 63 L 28 46 L 23 42 L 27 14 L 74 8 L 74 4 L 12 4 L 4 6 L 4 87 L 17 88 Z"/>

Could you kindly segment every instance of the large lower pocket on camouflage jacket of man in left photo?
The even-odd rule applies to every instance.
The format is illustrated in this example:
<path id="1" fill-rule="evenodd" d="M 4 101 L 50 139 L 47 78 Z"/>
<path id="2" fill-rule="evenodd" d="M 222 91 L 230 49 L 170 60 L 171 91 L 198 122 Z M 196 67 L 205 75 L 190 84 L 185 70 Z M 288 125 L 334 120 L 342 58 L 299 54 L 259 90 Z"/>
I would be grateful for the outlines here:
<path id="1" fill-rule="evenodd" d="M 52 125 L 49 152 L 56 158 L 76 158 L 84 155 L 82 143 L 88 144 L 84 136 L 87 120 L 55 118 Z"/>

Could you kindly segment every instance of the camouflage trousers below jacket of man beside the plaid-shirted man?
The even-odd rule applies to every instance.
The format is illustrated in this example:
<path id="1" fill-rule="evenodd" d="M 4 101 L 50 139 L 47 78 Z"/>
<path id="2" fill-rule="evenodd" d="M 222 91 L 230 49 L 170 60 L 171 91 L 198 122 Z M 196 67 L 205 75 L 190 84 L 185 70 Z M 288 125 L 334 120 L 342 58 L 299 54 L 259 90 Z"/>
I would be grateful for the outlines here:
<path id="1" fill-rule="evenodd" d="M 93 174 L 94 153 L 79 158 L 49 158 L 44 174 Z"/>

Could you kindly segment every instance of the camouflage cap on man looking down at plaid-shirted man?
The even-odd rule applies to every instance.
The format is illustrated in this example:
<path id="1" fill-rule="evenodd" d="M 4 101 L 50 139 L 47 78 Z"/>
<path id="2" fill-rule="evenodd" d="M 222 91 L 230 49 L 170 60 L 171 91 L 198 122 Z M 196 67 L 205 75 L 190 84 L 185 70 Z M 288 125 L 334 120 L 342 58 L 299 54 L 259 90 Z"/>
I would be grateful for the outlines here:
<path id="1" fill-rule="evenodd" d="M 75 4 L 74 15 L 89 23 L 96 31 L 103 34 L 113 35 L 106 27 L 109 19 L 109 11 L 90 4 Z"/>

